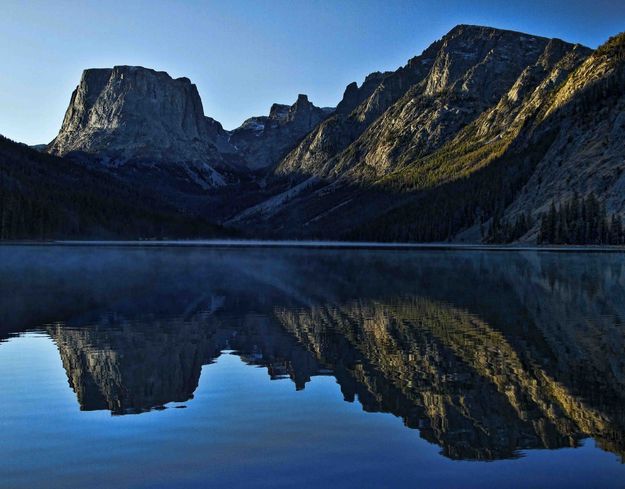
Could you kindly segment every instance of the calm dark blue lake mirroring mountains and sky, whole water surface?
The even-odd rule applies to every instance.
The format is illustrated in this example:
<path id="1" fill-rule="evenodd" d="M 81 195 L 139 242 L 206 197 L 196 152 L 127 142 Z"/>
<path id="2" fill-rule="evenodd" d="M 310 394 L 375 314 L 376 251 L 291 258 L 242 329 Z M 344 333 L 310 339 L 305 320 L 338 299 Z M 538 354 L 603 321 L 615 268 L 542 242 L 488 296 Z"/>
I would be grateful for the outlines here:
<path id="1" fill-rule="evenodd" d="M 0 248 L 0 486 L 625 487 L 625 257 Z"/>

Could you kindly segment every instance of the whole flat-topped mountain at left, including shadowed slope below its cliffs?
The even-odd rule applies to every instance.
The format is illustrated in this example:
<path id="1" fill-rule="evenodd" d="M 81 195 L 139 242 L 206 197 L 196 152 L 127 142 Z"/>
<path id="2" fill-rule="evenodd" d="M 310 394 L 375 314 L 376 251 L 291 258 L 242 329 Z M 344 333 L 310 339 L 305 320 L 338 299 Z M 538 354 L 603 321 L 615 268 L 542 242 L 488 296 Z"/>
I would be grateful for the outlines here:
<path id="1" fill-rule="evenodd" d="M 238 181 L 240 166 L 188 78 L 138 66 L 85 70 L 48 151 L 195 210 L 195 195 Z"/>

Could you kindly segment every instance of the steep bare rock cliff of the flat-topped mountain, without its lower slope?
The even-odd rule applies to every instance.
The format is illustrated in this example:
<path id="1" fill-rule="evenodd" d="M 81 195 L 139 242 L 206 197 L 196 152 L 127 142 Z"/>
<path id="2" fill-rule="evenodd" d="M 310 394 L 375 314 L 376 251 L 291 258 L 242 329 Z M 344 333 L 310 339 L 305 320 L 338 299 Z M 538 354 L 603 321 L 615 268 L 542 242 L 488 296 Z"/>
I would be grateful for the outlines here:
<path id="1" fill-rule="evenodd" d="M 188 78 L 137 66 L 83 72 L 49 152 L 83 153 L 109 166 L 192 163 L 204 183 L 223 184 L 215 171 L 233 151 L 221 125 L 204 116 Z"/>

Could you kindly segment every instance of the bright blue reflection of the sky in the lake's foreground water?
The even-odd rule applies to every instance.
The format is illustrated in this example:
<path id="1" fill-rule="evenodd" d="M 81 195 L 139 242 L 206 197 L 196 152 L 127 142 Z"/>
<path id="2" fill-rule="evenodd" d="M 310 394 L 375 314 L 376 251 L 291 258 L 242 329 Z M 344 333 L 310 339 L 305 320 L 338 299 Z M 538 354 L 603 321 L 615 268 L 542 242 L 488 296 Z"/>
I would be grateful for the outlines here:
<path id="1" fill-rule="evenodd" d="M 55 345 L 29 333 L 0 344 L 0 392 L 6 487 L 618 487 L 624 471 L 592 441 L 452 461 L 344 402 L 332 377 L 296 391 L 229 354 L 203 367 L 186 409 L 111 416 L 79 410 Z"/>

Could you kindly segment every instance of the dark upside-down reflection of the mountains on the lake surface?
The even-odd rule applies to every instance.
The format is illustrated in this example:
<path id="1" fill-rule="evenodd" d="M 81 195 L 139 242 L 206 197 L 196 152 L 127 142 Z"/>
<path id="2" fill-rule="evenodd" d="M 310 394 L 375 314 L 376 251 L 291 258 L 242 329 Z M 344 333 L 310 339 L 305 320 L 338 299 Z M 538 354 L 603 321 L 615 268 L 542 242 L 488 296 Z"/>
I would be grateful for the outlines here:
<path id="1" fill-rule="evenodd" d="M 401 417 L 451 459 L 515 458 L 587 437 L 625 455 L 620 255 L 0 255 L 0 335 L 45 330 L 82 410 L 187 402 L 202 366 L 232 350 L 298 390 L 334 376 L 346 401 Z"/>

